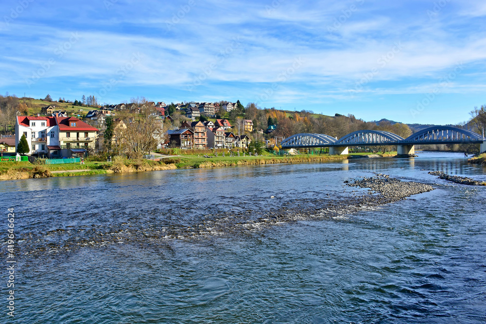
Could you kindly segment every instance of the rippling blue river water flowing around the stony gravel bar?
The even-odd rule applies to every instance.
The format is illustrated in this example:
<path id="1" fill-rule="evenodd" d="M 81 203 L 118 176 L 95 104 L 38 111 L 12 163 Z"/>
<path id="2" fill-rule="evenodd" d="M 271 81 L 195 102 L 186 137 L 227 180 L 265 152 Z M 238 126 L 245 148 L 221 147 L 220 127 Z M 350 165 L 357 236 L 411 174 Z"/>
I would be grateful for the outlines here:
<path id="1" fill-rule="evenodd" d="M 486 180 L 419 153 L 0 182 L 1 323 L 484 323 L 486 188 L 435 170 Z M 374 173 L 434 190 L 347 212 Z"/>

